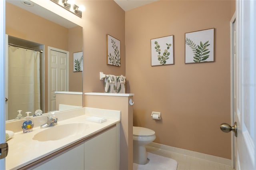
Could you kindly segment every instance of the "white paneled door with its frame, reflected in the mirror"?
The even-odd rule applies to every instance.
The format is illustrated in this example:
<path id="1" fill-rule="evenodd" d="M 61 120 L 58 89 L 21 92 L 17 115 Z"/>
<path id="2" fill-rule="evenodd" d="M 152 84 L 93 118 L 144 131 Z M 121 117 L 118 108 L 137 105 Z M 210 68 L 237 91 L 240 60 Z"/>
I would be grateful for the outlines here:
<path id="1" fill-rule="evenodd" d="M 51 48 L 49 50 L 49 111 L 56 110 L 55 91 L 68 91 L 68 51 Z M 48 99 L 49 99 L 48 98 Z"/>

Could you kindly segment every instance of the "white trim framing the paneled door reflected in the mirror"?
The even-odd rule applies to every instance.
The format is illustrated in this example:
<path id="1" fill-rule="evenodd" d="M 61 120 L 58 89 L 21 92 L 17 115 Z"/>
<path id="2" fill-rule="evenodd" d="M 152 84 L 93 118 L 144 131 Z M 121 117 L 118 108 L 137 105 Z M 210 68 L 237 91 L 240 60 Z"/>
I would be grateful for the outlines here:
<path id="1" fill-rule="evenodd" d="M 58 49 L 58 48 L 54 48 L 54 47 L 50 47 L 48 46 L 48 87 L 50 87 L 50 51 L 54 50 L 54 51 L 58 51 L 58 52 L 62 52 L 62 53 L 66 53 L 67 54 L 67 91 L 69 89 L 69 51 L 65 51 L 63 49 Z M 51 92 L 48 88 L 48 111 L 50 111 L 50 102 L 51 102 Z"/>

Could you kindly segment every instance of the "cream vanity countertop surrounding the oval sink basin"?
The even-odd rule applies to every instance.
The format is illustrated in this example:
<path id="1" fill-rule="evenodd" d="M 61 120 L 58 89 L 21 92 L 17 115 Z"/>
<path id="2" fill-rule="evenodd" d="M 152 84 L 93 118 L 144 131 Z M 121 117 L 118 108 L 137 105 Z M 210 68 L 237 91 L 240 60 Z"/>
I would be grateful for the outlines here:
<path id="1" fill-rule="evenodd" d="M 91 110 L 93 110 L 93 108 Z M 106 111 L 108 112 L 109 110 Z M 95 116 L 99 115 L 100 114 L 96 114 Z M 105 128 L 108 128 L 120 122 L 120 119 L 110 119 L 112 117 L 106 117 L 107 121 L 104 123 L 86 121 L 86 118 L 90 116 L 93 116 L 92 111 L 89 113 L 89 115 L 81 115 L 63 121 L 58 121 L 58 125 L 55 126 L 60 126 L 68 123 L 86 123 L 87 125 L 89 125 L 89 128 L 84 130 L 83 133 L 67 136 L 60 140 L 49 140 L 40 142 L 38 140 L 32 139 L 36 133 L 48 128 L 54 128 L 55 126 L 48 128 L 35 127 L 33 128 L 32 132 L 28 133 L 23 133 L 22 131 L 16 132 L 14 134 L 14 138 L 11 138 L 7 141 L 9 151 L 8 156 L 6 157 L 6 169 L 13 170 L 26 166 L 36 160 L 39 160 L 40 158 L 52 154 L 53 152 L 69 146 L 70 144 L 73 144 L 85 137 L 91 136 L 101 130 L 104 130 Z"/>

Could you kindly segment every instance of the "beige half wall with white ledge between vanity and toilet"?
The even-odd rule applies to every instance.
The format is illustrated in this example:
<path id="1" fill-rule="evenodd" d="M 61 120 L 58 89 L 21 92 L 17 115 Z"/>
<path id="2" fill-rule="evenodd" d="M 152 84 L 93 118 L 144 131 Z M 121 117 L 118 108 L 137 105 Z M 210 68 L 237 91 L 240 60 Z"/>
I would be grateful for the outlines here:
<path id="1" fill-rule="evenodd" d="M 120 169 L 133 169 L 133 96 L 130 93 L 85 93 L 85 106 L 121 111 Z"/>

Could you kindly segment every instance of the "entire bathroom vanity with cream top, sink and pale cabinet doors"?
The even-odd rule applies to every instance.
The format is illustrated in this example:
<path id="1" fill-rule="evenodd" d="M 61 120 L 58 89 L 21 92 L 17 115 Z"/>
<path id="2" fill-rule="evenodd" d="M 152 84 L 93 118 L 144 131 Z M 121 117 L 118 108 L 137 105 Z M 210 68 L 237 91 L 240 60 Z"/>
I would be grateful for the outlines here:
<path id="1" fill-rule="evenodd" d="M 92 116 L 107 121 L 88 121 Z M 119 169 L 120 111 L 84 107 L 56 113 L 56 117 L 58 125 L 40 128 L 47 117 L 35 117 L 32 132 L 15 132 L 7 141 L 6 169 Z M 11 123 L 16 126 L 17 122 Z M 15 130 L 13 126 L 6 129 Z"/>

